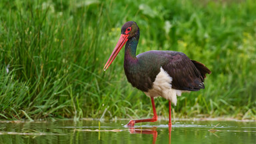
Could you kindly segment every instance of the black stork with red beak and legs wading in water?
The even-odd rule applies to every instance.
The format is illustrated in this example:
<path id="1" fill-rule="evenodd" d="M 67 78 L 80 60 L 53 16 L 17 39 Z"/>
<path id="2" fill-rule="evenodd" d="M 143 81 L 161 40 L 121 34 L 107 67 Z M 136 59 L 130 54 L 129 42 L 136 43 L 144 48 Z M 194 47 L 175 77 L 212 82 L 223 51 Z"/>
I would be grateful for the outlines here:
<path id="1" fill-rule="evenodd" d="M 113 62 L 123 45 L 125 45 L 125 75 L 137 89 L 151 98 L 153 107 L 152 119 L 131 120 L 126 125 L 134 127 L 135 123 L 157 121 L 154 97 L 169 100 L 169 127 L 171 127 L 171 102 L 176 105 L 177 95 L 184 91 L 204 89 L 206 73 L 211 71 L 198 61 L 193 61 L 184 53 L 177 51 L 147 51 L 136 56 L 139 42 L 139 27 L 134 21 L 128 21 L 121 29 L 121 37 L 104 70 Z"/>

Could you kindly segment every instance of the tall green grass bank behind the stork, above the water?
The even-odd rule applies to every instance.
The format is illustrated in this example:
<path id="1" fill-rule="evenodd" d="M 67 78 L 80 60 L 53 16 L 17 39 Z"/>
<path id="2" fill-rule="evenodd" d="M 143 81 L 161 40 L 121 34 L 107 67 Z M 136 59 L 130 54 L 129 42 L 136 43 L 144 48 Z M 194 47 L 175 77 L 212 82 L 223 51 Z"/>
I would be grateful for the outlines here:
<path id="1" fill-rule="evenodd" d="M 123 50 L 103 71 L 126 21 L 140 27 L 137 53 L 181 51 L 211 69 L 205 89 L 178 98 L 175 117 L 256 119 L 255 9 L 253 0 L 3 0 L 0 119 L 150 117 Z M 168 117 L 168 101 L 156 106 Z"/>

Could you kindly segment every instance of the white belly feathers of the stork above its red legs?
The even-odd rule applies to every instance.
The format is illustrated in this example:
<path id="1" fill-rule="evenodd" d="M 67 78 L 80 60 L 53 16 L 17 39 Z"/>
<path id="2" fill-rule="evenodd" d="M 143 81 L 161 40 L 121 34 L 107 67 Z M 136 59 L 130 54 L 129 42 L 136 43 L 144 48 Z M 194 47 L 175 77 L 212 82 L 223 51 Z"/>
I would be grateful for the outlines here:
<path id="1" fill-rule="evenodd" d="M 149 89 L 149 91 L 145 92 L 145 94 L 149 97 L 164 97 L 165 99 L 171 101 L 174 105 L 176 105 L 177 95 L 181 96 L 181 93 L 183 91 L 172 89 L 172 81 L 173 78 L 170 77 L 168 73 L 161 67 L 160 73 L 157 75 L 155 81 L 153 82 L 152 89 Z"/>

